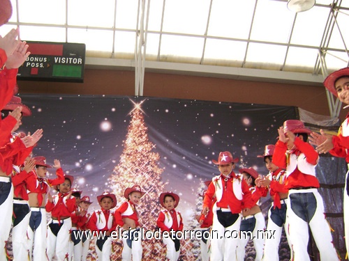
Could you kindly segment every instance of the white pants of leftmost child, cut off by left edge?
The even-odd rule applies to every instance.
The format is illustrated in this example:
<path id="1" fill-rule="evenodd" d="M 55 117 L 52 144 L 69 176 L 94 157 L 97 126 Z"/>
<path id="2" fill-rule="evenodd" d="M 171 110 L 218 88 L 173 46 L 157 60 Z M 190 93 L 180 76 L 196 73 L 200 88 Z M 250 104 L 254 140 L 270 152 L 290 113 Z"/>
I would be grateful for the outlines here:
<path id="1" fill-rule="evenodd" d="M 0 261 L 7 261 L 6 241 L 10 235 L 13 212 L 13 184 L 10 177 L 0 176 Z"/>

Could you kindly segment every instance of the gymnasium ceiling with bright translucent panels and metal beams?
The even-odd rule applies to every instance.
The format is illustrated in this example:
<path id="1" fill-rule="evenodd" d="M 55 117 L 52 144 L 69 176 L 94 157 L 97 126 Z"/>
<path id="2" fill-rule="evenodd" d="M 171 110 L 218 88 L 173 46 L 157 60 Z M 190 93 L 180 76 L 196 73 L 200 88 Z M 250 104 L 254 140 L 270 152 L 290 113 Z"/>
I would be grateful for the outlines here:
<path id="1" fill-rule="evenodd" d="M 299 0 L 304 1 L 304 0 Z M 320 85 L 348 66 L 349 0 L 11 0 L 22 40 L 86 44 L 86 68 Z M 142 81 L 142 80 L 140 80 Z"/>

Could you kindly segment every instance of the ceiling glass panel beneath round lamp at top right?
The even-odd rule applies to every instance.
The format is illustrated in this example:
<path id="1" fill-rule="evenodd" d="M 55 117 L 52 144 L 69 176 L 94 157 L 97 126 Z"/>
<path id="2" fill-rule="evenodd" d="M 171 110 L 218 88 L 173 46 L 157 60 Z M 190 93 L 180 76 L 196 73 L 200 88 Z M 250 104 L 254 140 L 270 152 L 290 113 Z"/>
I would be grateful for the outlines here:
<path id="1" fill-rule="evenodd" d="M 297 13 L 291 43 L 319 46 L 325 31 L 329 8 L 314 6 L 311 10 Z"/>

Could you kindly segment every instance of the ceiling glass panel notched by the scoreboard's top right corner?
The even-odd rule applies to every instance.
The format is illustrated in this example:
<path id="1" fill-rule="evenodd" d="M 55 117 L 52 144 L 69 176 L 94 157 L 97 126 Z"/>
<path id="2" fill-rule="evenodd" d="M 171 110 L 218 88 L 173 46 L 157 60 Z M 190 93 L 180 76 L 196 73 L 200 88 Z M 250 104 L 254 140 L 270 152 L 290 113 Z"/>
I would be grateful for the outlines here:
<path id="1" fill-rule="evenodd" d="M 68 29 L 68 42 L 84 43 L 89 51 L 112 52 L 112 31 Z"/>

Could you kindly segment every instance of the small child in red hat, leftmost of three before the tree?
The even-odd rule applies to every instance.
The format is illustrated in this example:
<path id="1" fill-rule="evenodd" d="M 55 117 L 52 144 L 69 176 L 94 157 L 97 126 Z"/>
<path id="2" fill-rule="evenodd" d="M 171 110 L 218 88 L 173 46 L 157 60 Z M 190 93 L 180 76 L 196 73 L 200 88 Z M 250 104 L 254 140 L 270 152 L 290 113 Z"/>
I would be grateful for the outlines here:
<path id="1" fill-rule="evenodd" d="M 110 192 L 105 191 L 102 195 L 97 196 L 101 209 L 92 213 L 88 228 L 92 232 L 105 232 L 105 236 L 96 240 L 96 252 L 98 260 L 109 261 L 112 253 L 112 238 L 110 234 L 117 228 L 114 219 L 114 212 L 110 209 L 116 207 L 117 197 Z"/>

